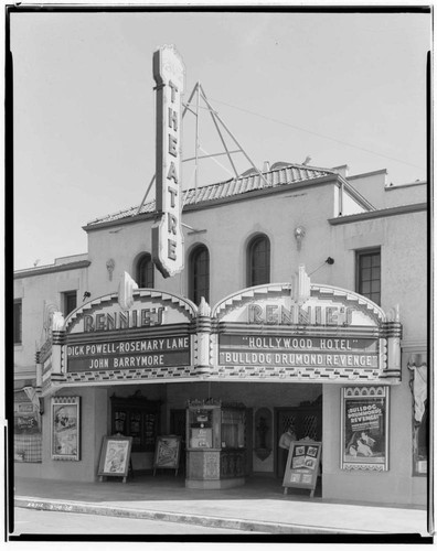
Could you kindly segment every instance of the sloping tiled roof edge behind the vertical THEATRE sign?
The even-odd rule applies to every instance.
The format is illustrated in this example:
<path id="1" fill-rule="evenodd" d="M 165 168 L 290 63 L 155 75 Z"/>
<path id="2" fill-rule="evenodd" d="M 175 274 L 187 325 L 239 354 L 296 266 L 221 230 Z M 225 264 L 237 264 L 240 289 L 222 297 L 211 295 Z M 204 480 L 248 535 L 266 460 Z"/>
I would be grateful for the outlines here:
<path id="1" fill-rule="evenodd" d="M 302 164 L 290 164 L 288 166 L 283 166 L 277 170 L 270 170 L 263 172 L 264 177 L 267 183 L 260 177 L 259 173 L 251 171 L 252 173 L 243 174 L 238 177 L 233 177 L 226 182 L 220 182 L 217 184 L 205 185 L 202 187 L 190 188 L 183 192 L 182 204 L 186 205 L 199 205 L 200 203 L 206 203 L 211 201 L 218 201 L 226 197 L 232 197 L 235 195 L 241 195 L 244 193 L 251 193 L 259 190 L 279 187 L 281 185 L 296 184 L 298 182 L 305 182 L 309 180 L 316 180 L 319 177 L 324 177 L 331 174 L 335 174 L 335 171 L 329 169 L 317 169 L 313 166 L 306 166 Z M 139 206 L 139 205 L 138 205 Z M 138 213 L 138 206 L 130 207 L 119 213 L 110 214 L 102 218 L 96 218 L 87 224 L 87 226 L 94 226 L 98 224 L 105 224 L 109 222 L 116 222 L 125 218 L 131 218 L 137 214 L 148 214 L 156 210 L 154 201 L 145 203 L 141 210 Z"/>

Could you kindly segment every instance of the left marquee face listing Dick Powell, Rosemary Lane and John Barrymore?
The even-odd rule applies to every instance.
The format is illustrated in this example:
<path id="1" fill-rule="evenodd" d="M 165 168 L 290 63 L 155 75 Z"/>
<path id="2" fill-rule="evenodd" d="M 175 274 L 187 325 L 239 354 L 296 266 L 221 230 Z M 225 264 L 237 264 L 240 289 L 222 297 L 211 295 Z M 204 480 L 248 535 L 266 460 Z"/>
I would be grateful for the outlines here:
<path id="1" fill-rule="evenodd" d="M 175 295 L 137 290 L 129 310 L 106 295 L 66 320 L 67 377 L 171 377 L 192 365 L 193 305 Z M 119 298 L 118 298 L 119 299 Z"/>

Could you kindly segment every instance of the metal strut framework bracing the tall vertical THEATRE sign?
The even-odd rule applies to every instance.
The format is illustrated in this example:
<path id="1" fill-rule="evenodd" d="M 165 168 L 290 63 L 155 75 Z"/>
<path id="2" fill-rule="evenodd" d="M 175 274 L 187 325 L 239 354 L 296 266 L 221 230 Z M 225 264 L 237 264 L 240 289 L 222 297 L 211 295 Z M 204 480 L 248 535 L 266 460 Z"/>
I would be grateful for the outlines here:
<path id="1" fill-rule="evenodd" d="M 204 106 L 201 106 L 201 100 L 203 101 Z M 220 137 L 221 143 L 223 145 L 223 151 L 218 151 L 217 153 L 207 153 L 201 147 L 201 140 L 200 140 L 200 112 L 201 112 L 201 109 L 205 109 L 206 111 L 210 112 L 211 118 L 212 118 L 213 123 L 214 123 L 214 127 L 215 127 L 215 130 L 216 130 L 216 132 L 217 132 L 217 134 Z M 251 163 L 251 166 L 254 169 L 254 171 L 265 182 L 265 184 L 269 185 L 269 183 L 266 180 L 265 175 L 260 172 L 260 170 L 257 166 L 255 166 L 254 162 L 248 156 L 248 154 L 243 149 L 243 147 L 239 144 L 239 142 L 237 141 L 237 139 L 235 138 L 235 136 L 231 132 L 231 130 L 227 128 L 227 126 L 221 119 L 218 112 L 212 107 L 211 102 L 209 101 L 209 99 L 206 97 L 205 90 L 203 89 L 203 86 L 201 85 L 200 82 L 198 82 L 194 85 L 194 88 L 193 88 L 192 93 L 190 94 L 189 100 L 186 101 L 186 104 L 184 104 L 184 109 L 183 109 L 183 112 L 182 112 L 182 119 L 184 118 L 184 116 L 188 112 L 192 114 L 195 117 L 194 156 L 191 156 L 189 159 L 183 159 L 182 162 L 186 163 L 189 161 L 194 161 L 194 186 L 195 186 L 194 197 L 195 197 L 195 201 L 196 201 L 196 197 L 198 197 L 198 187 L 199 187 L 199 174 L 200 174 L 199 164 L 200 164 L 200 161 L 204 160 L 204 159 L 211 159 L 211 160 L 213 160 L 225 172 L 227 172 L 228 174 L 231 174 L 233 177 L 237 179 L 239 176 L 239 174 L 238 174 L 238 172 L 237 172 L 237 170 L 235 168 L 235 163 L 234 163 L 234 160 L 233 160 L 232 155 L 237 154 L 237 153 L 242 153 L 247 159 L 247 161 Z M 226 134 L 234 142 L 234 149 L 233 150 L 231 150 L 231 148 L 226 143 L 226 140 L 225 140 Z M 235 145 L 236 145 L 236 149 L 235 149 Z M 220 163 L 216 160 L 217 156 L 223 156 L 223 155 L 226 155 L 226 158 L 227 158 L 227 160 L 228 160 L 228 162 L 231 164 L 232 172 L 230 170 L 227 170 L 222 163 Z M 151 181 L 150 181 L 150 183 L 149 183 L 149 185 L 148 185 L 148 187 L 146 190 L 146 193 L 145 193 L 145 196 L 143 196 L 143 198 L 141 201 L 141 204 L 138 207 L 137 215 L 140 214 L 141 208 L 142 208 L 142 206 L 146 203 L 146 199 L 147 199 L 147 197 L 148 197 L 148 195 L 149 195 L 149 193 L 150 193 L 150 191 L 152 188 L 152 185 L 154 183 L 154 179 L 156 179 L 156 174 L 151 179 Z M 182 225 L 185 226 L 185 224 L 182 224 Z"/>

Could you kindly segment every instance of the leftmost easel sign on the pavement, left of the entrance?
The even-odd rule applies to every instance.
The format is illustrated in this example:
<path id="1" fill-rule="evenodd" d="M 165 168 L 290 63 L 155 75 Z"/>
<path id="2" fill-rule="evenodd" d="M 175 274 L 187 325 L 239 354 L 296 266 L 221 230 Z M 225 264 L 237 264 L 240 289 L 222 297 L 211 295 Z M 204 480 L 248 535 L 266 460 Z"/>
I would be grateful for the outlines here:
<path id="1" fill-rule="evenodd" d="M 99 482 L 104 476 L 121 476 L 126 483 L 131 447 L 132 436 L 104 436 L 97 473 Z"/>

